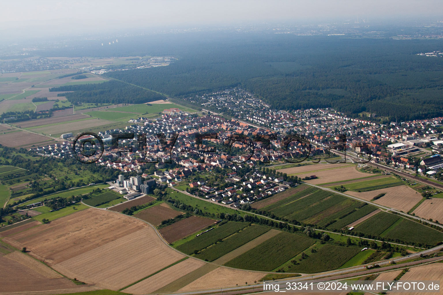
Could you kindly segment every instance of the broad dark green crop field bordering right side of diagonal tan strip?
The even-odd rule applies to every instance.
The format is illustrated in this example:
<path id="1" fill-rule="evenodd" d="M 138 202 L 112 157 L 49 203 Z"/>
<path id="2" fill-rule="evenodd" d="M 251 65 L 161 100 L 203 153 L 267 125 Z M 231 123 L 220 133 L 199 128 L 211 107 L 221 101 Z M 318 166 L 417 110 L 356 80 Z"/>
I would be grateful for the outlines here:
<path id="1" fill-rule="evenodd" d="M 313 243 L 314 240 L 310 238 L 283 232 L 228 261 L 225 265 L 233 268 L 272 271 Z M 257 253 L 260 253 L 261 259 L 257 259 Z"/>

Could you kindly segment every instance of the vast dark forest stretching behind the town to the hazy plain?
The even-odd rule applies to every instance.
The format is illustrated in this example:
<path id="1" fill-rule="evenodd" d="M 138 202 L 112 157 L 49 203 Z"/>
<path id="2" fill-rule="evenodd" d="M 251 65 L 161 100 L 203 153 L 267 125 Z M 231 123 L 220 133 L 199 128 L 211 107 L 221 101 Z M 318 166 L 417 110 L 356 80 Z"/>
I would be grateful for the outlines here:
<path id="1" fill-rule="evenodd" d="M 176 98 L 240 86 L 276 109 L 333 107 L 385 121 L 443 115 L 443 59 L 416 55 L 443 47 L 439 40 L 257 35 L 218 46 L 194 42 L 167 67 L 105 75 Z"/>

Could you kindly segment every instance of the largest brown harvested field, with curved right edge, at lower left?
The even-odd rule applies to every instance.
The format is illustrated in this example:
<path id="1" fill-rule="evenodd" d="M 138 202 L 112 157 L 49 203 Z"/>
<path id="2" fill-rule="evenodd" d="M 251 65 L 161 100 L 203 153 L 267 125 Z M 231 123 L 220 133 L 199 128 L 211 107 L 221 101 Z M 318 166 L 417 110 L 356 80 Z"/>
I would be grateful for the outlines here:
<path id="1" fill-rule="evenodd" d="M 184 257 L 145 223 L 94 208 L 19 231 L 3 241 L 20 248 L 26 245 L 32 256 L 68 277 L 113 290 Z"/>

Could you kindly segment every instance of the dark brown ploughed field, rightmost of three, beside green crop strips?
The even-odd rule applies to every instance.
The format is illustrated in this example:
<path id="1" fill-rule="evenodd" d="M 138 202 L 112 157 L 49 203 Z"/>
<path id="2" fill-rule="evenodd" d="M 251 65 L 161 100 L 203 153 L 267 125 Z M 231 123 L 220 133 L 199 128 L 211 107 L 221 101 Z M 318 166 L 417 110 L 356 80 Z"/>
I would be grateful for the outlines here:
<path id="1" fill-rule="evenodd" d="M 163 238 L 172 243 L 204 229 L 206 226 L 214 224 L 214 219 L 191 216 L 175 222 L 169 226 L 165 226 L 159 230 Z"/>

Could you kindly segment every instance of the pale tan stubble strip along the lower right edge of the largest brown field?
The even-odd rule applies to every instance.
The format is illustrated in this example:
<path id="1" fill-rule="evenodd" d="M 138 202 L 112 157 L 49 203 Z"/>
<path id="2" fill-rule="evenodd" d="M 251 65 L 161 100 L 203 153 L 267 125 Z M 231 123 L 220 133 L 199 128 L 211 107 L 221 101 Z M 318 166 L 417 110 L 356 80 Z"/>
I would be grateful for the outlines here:
<path id="1" fill-rule="evenodd" d="M 197 268 L 202 267 L 203 265 L 205 265 L 205 263 L 202 261 L 188 258 L 187 260 L 172 265 L 171 267 L 150 276 L 146 280 L 124 289 L 123 291 L 130 294 L 152 293 L 153 291 L 174 282 L 175 280 L 196 270 Z"/>

